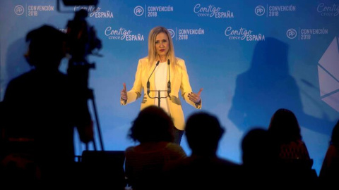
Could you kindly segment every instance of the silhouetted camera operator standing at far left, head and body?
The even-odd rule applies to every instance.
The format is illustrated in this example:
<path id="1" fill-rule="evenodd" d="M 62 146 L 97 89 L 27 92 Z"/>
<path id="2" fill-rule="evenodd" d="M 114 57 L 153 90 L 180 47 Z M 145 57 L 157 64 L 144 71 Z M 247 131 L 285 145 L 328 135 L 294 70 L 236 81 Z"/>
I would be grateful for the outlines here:
<path id="1" fill-rule="evenodd" d="M 64 186 L 74 170 L 74 127 L 93 140 L 93 122 L 59 71 L 66 34 L 42 25 L 26 36 L 31 70 L 8 83 L 1 102 L 1 179 L 13 186 Z"/>

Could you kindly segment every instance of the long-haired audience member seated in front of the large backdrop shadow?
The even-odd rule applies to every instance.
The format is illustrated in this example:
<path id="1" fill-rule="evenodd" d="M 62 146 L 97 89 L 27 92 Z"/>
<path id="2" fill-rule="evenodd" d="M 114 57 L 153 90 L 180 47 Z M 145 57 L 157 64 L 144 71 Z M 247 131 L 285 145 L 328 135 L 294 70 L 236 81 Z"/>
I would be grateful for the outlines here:
<path id="1" fill-rule="evenodd" d="M 295 114 L 291 110 L 280 108 L 273 114 L 268 132 L 273 143 L 276 179 L 282 187 L 306 188 L 318 184 L 316 171 L 312 169 L 307 146 Z"/>

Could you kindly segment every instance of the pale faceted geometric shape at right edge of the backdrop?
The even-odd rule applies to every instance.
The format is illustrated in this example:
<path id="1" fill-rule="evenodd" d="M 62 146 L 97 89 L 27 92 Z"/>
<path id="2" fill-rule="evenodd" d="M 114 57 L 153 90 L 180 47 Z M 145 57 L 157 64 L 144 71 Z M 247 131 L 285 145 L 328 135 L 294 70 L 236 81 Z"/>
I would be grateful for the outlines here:
<path id="1" fill-rule="evenodd" d="M 339 112 L 339 37 L 335 37 L 318 65 L 321 100 Z"/>

